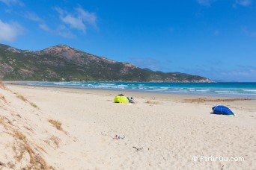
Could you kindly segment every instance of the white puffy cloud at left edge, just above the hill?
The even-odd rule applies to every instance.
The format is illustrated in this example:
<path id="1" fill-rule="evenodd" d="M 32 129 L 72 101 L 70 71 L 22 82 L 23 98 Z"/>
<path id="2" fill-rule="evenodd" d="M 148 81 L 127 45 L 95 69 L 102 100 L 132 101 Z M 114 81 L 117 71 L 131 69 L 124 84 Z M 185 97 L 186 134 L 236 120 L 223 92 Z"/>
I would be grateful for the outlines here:
<path id="1" fill-rule="evenodd" d="M 0 20 L 0 41 L 13 41 L 19 34 L 22 34 L 23 28 L 19 24 L 4 23 Z"/>

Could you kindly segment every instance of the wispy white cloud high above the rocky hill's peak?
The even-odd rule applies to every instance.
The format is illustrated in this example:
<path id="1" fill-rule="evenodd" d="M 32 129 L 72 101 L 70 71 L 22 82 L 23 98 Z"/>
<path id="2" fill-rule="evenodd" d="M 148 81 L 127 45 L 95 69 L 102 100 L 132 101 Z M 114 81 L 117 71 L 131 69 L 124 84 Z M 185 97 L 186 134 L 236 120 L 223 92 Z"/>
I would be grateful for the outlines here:
<path id="1" fill-rule="evenodd" d="M 61 7 L 55 7 L 55 10 L 59 13 L 60 19 L 70 28 L 77 29 L 86 34 L 87 27 L 93 26 L 97 28 L 97 16 L 95 13 L 90 13 L 82 7 L 77 7 L 73 13 L 69 13 Z"/>

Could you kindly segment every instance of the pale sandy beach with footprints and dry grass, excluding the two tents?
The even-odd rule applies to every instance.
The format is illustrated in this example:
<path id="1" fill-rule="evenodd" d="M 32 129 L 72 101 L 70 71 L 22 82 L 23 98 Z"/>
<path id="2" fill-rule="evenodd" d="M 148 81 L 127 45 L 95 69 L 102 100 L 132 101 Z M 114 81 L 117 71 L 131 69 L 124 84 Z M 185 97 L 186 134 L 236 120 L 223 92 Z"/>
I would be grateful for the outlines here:
<path id="1" fill-rule="evenodd" d="M 0 116 L 0 169 L 256 169 L 255 100 L 5 84 Z"/>

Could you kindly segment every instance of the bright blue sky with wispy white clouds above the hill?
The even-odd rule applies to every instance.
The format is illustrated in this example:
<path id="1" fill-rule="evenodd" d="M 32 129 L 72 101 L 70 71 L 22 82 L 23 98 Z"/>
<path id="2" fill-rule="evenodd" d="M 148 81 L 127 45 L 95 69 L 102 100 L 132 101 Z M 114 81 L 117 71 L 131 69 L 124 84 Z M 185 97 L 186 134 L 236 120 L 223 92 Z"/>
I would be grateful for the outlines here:
<path id="1" fill-rule="evenodd" d="M 0 0 L 0 43 L 64 44 L 154 71 L 256 81 L 256 1 Z"/>

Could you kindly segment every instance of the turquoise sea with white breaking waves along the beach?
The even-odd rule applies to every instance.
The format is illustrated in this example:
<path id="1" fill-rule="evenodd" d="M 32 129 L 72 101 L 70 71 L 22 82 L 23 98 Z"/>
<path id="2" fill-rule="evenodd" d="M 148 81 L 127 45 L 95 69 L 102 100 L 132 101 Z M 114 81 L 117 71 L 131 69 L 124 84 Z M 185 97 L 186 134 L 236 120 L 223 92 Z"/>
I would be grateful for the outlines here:
<path id="1" fill-rule="evenodd" d="M 256 98 L 256 83 L 29 82 L 26 84 L 31 86 L 62 86 L 85 89 L 115 89 L 137 92 Z"/>

